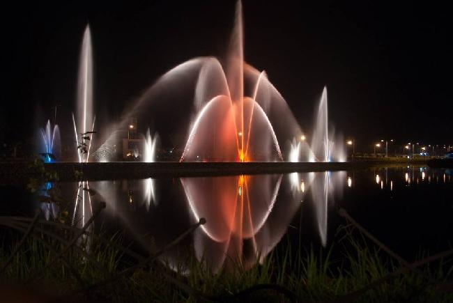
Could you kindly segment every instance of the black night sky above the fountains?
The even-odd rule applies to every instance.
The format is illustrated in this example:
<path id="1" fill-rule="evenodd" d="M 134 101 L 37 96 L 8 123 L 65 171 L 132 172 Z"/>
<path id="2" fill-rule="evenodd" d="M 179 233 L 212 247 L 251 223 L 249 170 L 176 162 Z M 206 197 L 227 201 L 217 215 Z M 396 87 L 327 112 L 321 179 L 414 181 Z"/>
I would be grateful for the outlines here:
<path id="1" fill-rule="evenodd" d="M 93 3 L 94 2 L 94 3 Z M 1 142 L 52 118 L 72 135 L 82 34 L 91 26 L 98 115 L 118 117 L 175 65 L 224 56 L 236 1 L 15 1 L 1 22 Z M 441 4 L 243 1 L 245 60 L 266 70 L 302 129 L 328 86 L 330 121 L 358 148 L 452 143 L 452 18 Z M 175 109 L 184 110 L 184 109 Z"/>

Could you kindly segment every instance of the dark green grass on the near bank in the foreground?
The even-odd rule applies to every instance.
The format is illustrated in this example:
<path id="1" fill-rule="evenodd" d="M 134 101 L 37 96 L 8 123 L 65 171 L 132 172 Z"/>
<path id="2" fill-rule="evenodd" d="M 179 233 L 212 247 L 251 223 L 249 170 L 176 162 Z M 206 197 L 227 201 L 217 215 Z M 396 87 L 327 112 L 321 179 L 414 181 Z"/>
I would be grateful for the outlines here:
<path id="1" fill-rule="evenodd" d="M 37 229 L 42 227 L 38 223 Z M 73 233 L 55 226 L 50 228 L 61 239 L 34 231 L 33 237 L 26 238 L 3 272 L 3 280 L 19 286 L 17 291 L 33 293 L 36 288 L 45 288 L 51 290 L 45 293 L 48 297 L 56 297 L 56 300 L 63 297 L 66 301 L 75 302 L 208 300 L 263 303 L 289 302 L 291 296 L 301 302 L 453 302 L 452 258 L 439 259 L 417 267 L 417 270 L 389 276 L 400 270 L 402 265 L 379 247 L 373 246 L 361 233 L 346 227 L 341 228 L 332 246 L 320 251 L 304 249 L 299 245 L 293 247 L 289 238 L 284 239 L 261 264 L 252 268 L 246 268 L 235 258 L 228 269 L 214 273 L 206 263 L 190 255 L 178 260 L 173 270 L 161 259 L 130 274 L 118 276 L 112 283 L 101 283 L 84 291 L 90 285 L 115 277 L 139 260 L 125 256 L 124 251 L 118 249 L 123 245 L 120 235 L 113 235 L 107 241 L 84 235 L 64 255 L 68 263 L 61 259 L 52 262 L 56 253 L 49 247 L 62 251 L 66 246 L 62 239 L 69 240 Z M 106 238 L 106 235 L 102 236 Z M 20 238 L 10 229 L 3 230 L 0 267 L 15 250 Z M 420 254 L 419 259 L 426 257 Z M 49 263 L 50 266 L 46 266 Z M 27 284 L 31 277 L 36 279 Z M 370 283 L 382 277 L 387 279 L 369 287 Z M 263 288 L 235 296 L 259 285 Z M 279 286 L 284 289 L 270 289 Z M 440 286 L 447 291 L 442 292 Z M 348 297 L 361 288 L 367 290 L 357 297 Z M 282 291 L 286 290 L 289 294 L 282 295 Z"/>

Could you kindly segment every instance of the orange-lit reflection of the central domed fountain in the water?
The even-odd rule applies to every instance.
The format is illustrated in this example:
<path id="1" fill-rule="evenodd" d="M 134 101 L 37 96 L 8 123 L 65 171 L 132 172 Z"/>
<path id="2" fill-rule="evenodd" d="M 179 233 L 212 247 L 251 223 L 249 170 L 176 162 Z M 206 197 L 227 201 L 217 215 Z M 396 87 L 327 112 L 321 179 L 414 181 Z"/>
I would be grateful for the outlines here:
<path id="1" fill-rule="evenodd" d="M 182 178 L 194 219 L 207 220 L 195 233 L 197 258 L 213 270 L 231 261 L 249 266 L 263 260 L 282 236 L 270 229 L 269 220 L 281 180 L 271 175 Z"/>

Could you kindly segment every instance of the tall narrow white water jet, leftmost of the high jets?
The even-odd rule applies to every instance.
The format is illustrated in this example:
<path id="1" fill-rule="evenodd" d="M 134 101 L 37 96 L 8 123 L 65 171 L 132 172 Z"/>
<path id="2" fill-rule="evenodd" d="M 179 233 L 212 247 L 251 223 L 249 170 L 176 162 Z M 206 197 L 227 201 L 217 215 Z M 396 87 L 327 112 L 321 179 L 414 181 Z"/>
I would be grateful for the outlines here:
<path id="1" fill-rule="evenodd" d="M 76 114 L 72 114 L 79 162 L 88 162 L 93 139 L 93 58 L 91 33 L 87 25 L 80 51 L 79 78 L 77 82 Z"/>

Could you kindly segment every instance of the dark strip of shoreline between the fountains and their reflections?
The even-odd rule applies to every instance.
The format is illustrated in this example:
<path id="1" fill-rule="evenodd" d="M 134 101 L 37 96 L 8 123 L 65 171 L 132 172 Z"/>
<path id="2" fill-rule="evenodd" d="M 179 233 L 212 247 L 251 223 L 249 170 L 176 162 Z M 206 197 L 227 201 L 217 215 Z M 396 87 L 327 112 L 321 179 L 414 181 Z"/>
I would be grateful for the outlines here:
<path id="1" fill-rule="evenodd" d="M 54 162 L 44 164 L 46 172 L 60 181 L 184 178 L 202 176 L 256 175 L 265 173 L 307 173 L 350 171 L 378 166 L 427 165 L 426 160 L 362 160 L 354 162 Z M 0 162 L 0 184 L 28 182 L 43 174 L 32 162 Z"/>

